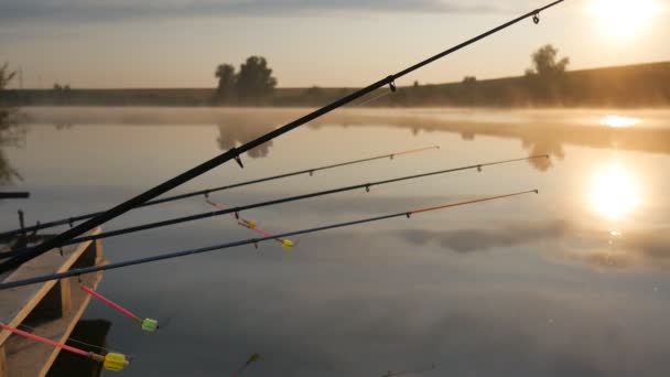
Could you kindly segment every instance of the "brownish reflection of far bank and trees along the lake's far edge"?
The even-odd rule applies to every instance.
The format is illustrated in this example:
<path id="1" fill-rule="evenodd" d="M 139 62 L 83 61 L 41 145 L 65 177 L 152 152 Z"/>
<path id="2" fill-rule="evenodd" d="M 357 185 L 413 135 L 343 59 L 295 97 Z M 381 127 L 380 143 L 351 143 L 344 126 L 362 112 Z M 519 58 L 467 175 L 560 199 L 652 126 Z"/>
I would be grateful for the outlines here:
<path id="1" fill-rule="evenodd" d="M 281 126 L 310 111 L 309 109 L 98 109 L 98 108 L 34 108 L 30 109 L 34 122 L 73 125 L 217 125 L 217 142 L 224 150 L 249 141 L 277 126 Z M 641 151 L 670 154 L 670 128 L 663 123 L 668 114 L 662 110 L 639 111 L 642 117 L 622 115 L 597 116 L 597 110 L 525 111 L 463 109 L 365 109 L 338 110 L 310 122 L 309 127 L 380 126 L 397 127 L 419 132 L 458 133 L 463 140 L 477 137 L 516 139 L 529 154 L 550 154 L 553 160 L 565 158 L 565 146 L 597 149 L 617 148 L 622 151 Z M 594 122 L 594 114 L 596 114 Z M 651 127 L 633 127 L 641 123 Z M 607 127 L 594 127 L 605 125 Z M 656 127 L 661 126 L 661 127 Z M 272 144 L 250 153 L 255 158 L 268 157 Z M 547 171 L 552 161 L 533 160 L 533 168 Z"/>

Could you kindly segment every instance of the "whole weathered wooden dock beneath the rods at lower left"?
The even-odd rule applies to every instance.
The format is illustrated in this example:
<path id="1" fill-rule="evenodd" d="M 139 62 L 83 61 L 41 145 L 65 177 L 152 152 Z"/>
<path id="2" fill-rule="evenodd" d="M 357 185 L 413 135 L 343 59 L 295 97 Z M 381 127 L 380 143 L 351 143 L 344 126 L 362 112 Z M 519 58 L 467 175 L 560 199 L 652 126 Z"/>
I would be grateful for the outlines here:
<path id="1" fill-rule="evenodd" d="M 93 234 L 100 233 L 96 229 Z M 73 268 L 105 263 L 100 240 L 89 240 L 48 251 L 23 263 L 4 281 L 22 280 L 46 273 L 64 272 Z M 65 343 L 77 324 L 90 295 L 79 289 L 79 281 L 96 289 L 102 271 L 58 281 L 0 291 L 0 321 L 9 326 Z M 0 377 L 45 376 L 60 348 L 26 340 L 8 331 L 0 331 Z M 94 363 L 91 360 L 91 363 Z"/>

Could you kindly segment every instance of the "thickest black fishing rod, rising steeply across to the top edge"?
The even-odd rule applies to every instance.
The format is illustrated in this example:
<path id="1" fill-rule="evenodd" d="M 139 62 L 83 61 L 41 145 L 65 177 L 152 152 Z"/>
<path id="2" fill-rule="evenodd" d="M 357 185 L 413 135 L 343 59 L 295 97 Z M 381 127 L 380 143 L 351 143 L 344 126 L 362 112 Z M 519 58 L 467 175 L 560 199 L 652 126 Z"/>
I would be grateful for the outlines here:
<path id="1" fill-rule="evenodd" d="M 511 25 L 514 25 L 516 23 L 519 23 L 519 22 L 521 22 L 521 21 L 523 21 L 526 19 L 532 18 L 532 21 L 536 24 L 538 24 L 538 23 L 540 23 L 540 13 L 542 11 L 544 11 L 547 9 L 550 9 L 550 8 L 553 8 L 553 7 L 558 6 L 559 3 L 563 2 L 563 1 L 565 1 L 565 0 L 556 0 L 556 1 L 553 1 L 553 2 L 547 4 L 547 6 L 542 7 L 542 8 L 538 8 L 536 10 L 532 10 L 532 11 L 530 11 L 530 12 L 528 12 L 526 14 L 522 14 L 522 15 L 520 15 L 520 17 L 511 20 L 511 21 L 508 21 L 508 22 L 506 22 L 506 23 L 504 23 L 504 24 L 501 24 L 499 26 L 496 26 L 496 28 L 494 28 L 494 29 L 491 29 L 491 30 L 489 30 L 487 32 L 484 32 L 483 34 L 479 34 L 479 35 L 477 35 L 477 36 L 475 36 L 473 39 L 469 39 L 469 40 L 461 43 L 461 44 L 457 44 L 457 45 L 455 45 L 455 46 L 453 46 L 451 49 L 447 49 L 447 50 L 445 50 L 445 51 L 443 51 L 443 52 L 441 52 L 441 53 L 439 53 L 436 55 L 433 55 L 433 56 L 431 56 L 431 57 L 429 57 L 429 58 L 426 58 L 424 61 L 421 61 L 421 62 L 419 62 L 419 63 L 417 63 L 417 64 L 414 64 L 414 65 L 412 65 L 412 66 L 410 66 L 408 68 L 404 68 L 404 69 L 402 69 L 402 71 L 400 71 L 400 72 L 398 72 L 398 73 L 396 73 L 393 75 L 389 75 L 389 76 L 387 76 L 385 78 L 381 78 L 380 80 L 378 80 L 378 82 L 376 82 L 374 84 L 370 84 L 370 85 L 368 85 L 368 86 L 366 86 L 366 87 L 364 87 L 361 89 L 358 89 L 358 90 L 356 90 L 356 91 L 354 91 L 354 93 L 352 93 L 352 94 L 349 94 L 349 95 L 347 95 L 345 97 L 342 97 L 342 98 L 335 100 L 334 103 L 331 103 L 329 105 L 326 105 L 326 106 L 324 106 L 324 107 L 322 107 L 322 108 L 320 108 L 317 110 L 314 110 L 314 111 L 312 111 L 312 112 L 303 116 L 302 118 L 295 119 L 295 120 L 293 120 L 293 121 L 291 121 L 291 122 L 289 122 L 289 123 L 287 123 L 284 126 L 281 126 L 280 128 L 277 128 L 277 129 L 274 129 L 274 130 L 272 130 L 272 131 L 270 131 L 270 132 L 268 132 L 266 134 L 262 134 L 262 136 L 260 136 L 260 137 L 258 137 L 258 138 L 249 141 L 249 142 L 247 142 L 245 144 L 241 144 L 240 147 L 237 147 L 237 148 L 234 147 L 233 149 L 228 150 L 227 152 L 224 152 L 224 153 L 221 153 L 221 154 L 219 154 L 219 155 L 217 155 L 217 157 L 215 157 L 215 158 L 213 158 L 213 159 L 210 159 L 210 160 L 208 160 L 206 162 L 203 162 L 202 164 L 199 164 L 197 166 L 194 166 L 193 169 L 187 170 L 186 172 L 184 172 L 184 173 L 182 173 L 182 174 L 180 174 L 180 175 L 177 175 L 177 176 L 175 176 L 173 179 L 164 181 L 163 183 L 159 184 L 158 186 L 155 186 L 153 188 L 150 188 L 150 190 L 148 190 L 148 191 L 139 194 L 138 196 L 134 196 L 134 197 L 132 197 L 132 198 L 130 198 L 130 200 L 128 200 L 128 201 L 126 201 L 126 202 L 123 202 L 121 204 L 118 204 L 117 206 L 115 206 L 115 207 L 106 211 L 105 213 L 102 213 L 100 215 L 97 215 L 97 216 L 95 216 L 93 218 L 89 218 L 88 220 L 86 220 L 86 222 L 84 222 L 84 223 L 82 223 L 82 224 L 79 224 L 79 225 L 77 225 L 77 226 L 75 226 L 75 227 L 73 227 L 73 228 L 71 228 L 68 230 L 65 230 L 62 234 L 60 234 L 60 235 L 57 235 L 57 236 L 55 236 L 53 238 L 50 238 L 48 240 L 46 240 L 46 241 L 44 241 L 42 244 L 39 244 L 39 245 L 36 245 L 36 246 L 34 246 L 34 247 L 32 247 L 30 249 L 23 250 L 21 254 L 19 254 L 17 256 L 12 257 L 11 259 L 9 259 L 9 260 L 0 263 L 0 273 L 8 272 L 8 271 L 10 271 L 10 270 L 19 267 L 21 263 L 23 263 L 23 262 L 25 262 L 28 260 L 31 260 L 31 259 L 33 259 L 33 258 L 35 258 L 35 257 L 37 257 L 37 256 L 40 256 L 40 255 L 42 255 L 42 254 L 51 250 L 51 249 L 53 249 L 53 248 L 63 246 L 66 241 L 73 239 L 73 238 L 75 238 L 77 236 L 80 236 L 84 233 L 86 233 L 88 230 L 91 230 L 95 227 L 97 227 L 99 225 L 102 225 L 102 224 L 105 224 L 105 223 L 107 223 L 107 222 L 109 222 L 109 220 L 111 220 L 111 219 L 114 219 L 114 218 L 116 218 L 116 217 L 118 217 L 118 216 L 127 213 L 128 211 L 130 211 L 130 209 L 132 209 L 132 208 L 134 208 L 134 207 L 137 207 L 137 206 L 139 206 L 139 205 L 141 205 L 141 204 L 143 204 L 145 202 L 148 202 L 148 201 L 153 200 L 153 198 L 158 197 L 159 195 L 164 194 L 168 191 L 170 191 L 170 190 L 172 190 L 172 188 L 174 188 L 174 187 L 176 187 L 176 186 L 179 186 L 179 185 L 181 185 L 183 183 L 186 183 L 186 182 L 195 179 L 196 176 L 199 176 L 199 175 L 202 175 L 202 174 L 204 174 L 204 173 L 206 173 L 206 172 L 215 169 L 216 166 L 219 166 L 219 165 L 221 165 L 224 163 L 227 163 L 230 160 L 235 160 L 239 164 L 240 168 L 244 168 L 244 164 L 242 164 L 242 161 L 241 161 L 241 158 L 240 158 L 240 155 L 242 153 L 246 153 L 246 152 L 248 152 L 248 151 L 250 151 L 250 150 L 252 150 L 252 149 L 255 149 L 255 148 L 257 148 L 257 147 L 259 147 L 259 146 L 261 146 L 261 144 L 270 141 L 270 140 L 273 140 L 273 139 L 275 139 L 275 138 L 278 138 L 278 137 L 287 133 L 287 132 L 290 132 L 290 131 L 296 129 L 298 127 L 301 127 L 301 126 L 303 126 L 303 125 L 305 125 L 305 123 L 307 123 L 307 122 L 310 122 L 310 121 L 312 121 L 314 119 L 317 119 L 317 118 L 320 118 L 320 117 L 322 117 L 322 116 L 324 116 L 324 115 L 326 115 L 326 114 L 328 114 L 328 112 L 331 112 L 331 111 L 333 111 L 333 110 L 335 110 L 335 109 L 337 109 L 339 107 L 343 107 L 343 106 L 345 106 L 345 105 L 347 105 L 349 103 L 353 103 L 354 100 L 356 100 L 358 98 L 361 98 L 361 97 L 364 97 L 364 96 L 366 96 L 366 95 L 368 95 L 368 94 L 370 94 L 370 93 L 372 93 L 372 91 L 375 91 L 375 90 L 377 90 L 379 88 L 388 86 L 391 91 L 396 91 L 397 90 L 396 80 L 398 78 L 407 76 L 407 75 L 409 75 L 410 73 L 412 73 L 414 71 L 418 71 L 418 69 L 420 69 L 420 68 L 422 68 L 422 67 L 424 67 L 424 66 L 426 66 L 426 65 L 429 65 L 429 64 L 431 64 L 431 63 L 433 63 L 435 61 L 439 61 L 439 60 L 441 60 L 441 58 L 443 58 L 443 57 L 445 57 L 447 55 L 451 55 L 451 54 L 453 54 L 453 53 L 455 53 L 455 52 L 457 52 L 457 51 L 460 51 L 462 49 L 465 49 L 466 46 L 469 46 L 473 43 L 476 43 L 476 42 L 478 42 L 478 41 L 480 41 L 483 39 L 486 39 L 486 37 L 493 35 L 493 34 L 496 34 L 496 33 L 500 32 L 501 30 L 505 30 L 505 29 L 507 29 L 507 28 L 509 28 L 509 26 L 511 26 Z"/>

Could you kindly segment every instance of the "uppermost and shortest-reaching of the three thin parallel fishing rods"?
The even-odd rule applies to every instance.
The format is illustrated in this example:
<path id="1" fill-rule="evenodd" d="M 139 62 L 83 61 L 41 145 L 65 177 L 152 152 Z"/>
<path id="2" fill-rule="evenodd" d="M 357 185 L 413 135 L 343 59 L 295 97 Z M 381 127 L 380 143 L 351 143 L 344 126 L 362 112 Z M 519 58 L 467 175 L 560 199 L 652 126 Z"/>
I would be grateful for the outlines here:
<path id="1" fill-rule="evenodd" d="M 252 185 L 252 184 L 258 184 L 258 183 L 263 183 L 263 182 L 270 182 L 270 181 L 275 181 L 275 180 L 281 180 L 281 179 L 287 179 L 287 177 L 292 177 L 292 176 L 298 176 L 298 175 L 303 175 L 303 174 L 310 174 L 310 176 L 312 176 L 312 175 L 314 175 L 314 173 L 321 172 L 321 171 L 325 171 L 325 170 L 331 170 L 331 169 L 336 169 L 336 168 L 344 168 L 344 166 L 349 166 L 349 165 L 356 165 L 356 164 L 361 164 L 361 163 L 371 162 L 371 161 L 376 161 L 376 160 L 385 160 L 385 159 L 393 160 L 397 157 L 407 155 L 407 154 L 413 154 L 413 153 L 420 153 L 420 152 L 425 152 L 425 151 L 433 150 L 433 149 L 440 149 L 440 146 L 433 146 L 433 147 L 426 147 L 426 148 L 420 148 L 420 149 L 412 149 L 412 150 L 400 151 L 400 152 L 395 152 L 395 153 L 387 153 L 387 154 L 376 155 L 376 157 L 371 157 L 371 158 L 365 158 L 365 159 L 359 159 L 359 160 L 339 162 L 339 163 L 335 163 L 335 164 L 331 164 L 331 165 L 325 165 L 325 166 L 318 166 L 318 168 L 299 170 L 299 171 L 295 171 L 295 172 L 283 173 L 283 174 L 279 174 L 279 175 L 272 175 L 272 176 L 261 177 L 261 179 L 251 180 L 251 181 L 245 181 L 245 182 L 229 184 L 229 185 L 219 186 L 219 187 L 212 187 L 212 188 L 205 188 L 205 190 L 194 191 L 194 192 L 191 192 L 191 193 L 185 193 L 185 194 L 163 197 L 163 198 L 159 198 L 159 200 L 154 200 L 154 201 L 149 201 L 147 203 L 143 203 L 143 204 L 140 204 L 140 205 L 136 206 L 132 209 L 140 208 L 140 207 L 148 207 L 148 206 L 152 206 L 152 205 L 156 205 L 156 204 L 163 204 L 163 203 L 174 202 L 174 201 L 184 200 L 184 198 L 194 197 L 194 196 L 199 196 L 199 195 L 208 195 L 208 194 L 212 194 L 212 193 L 221 192 L 221 191 L 226 191 L 226 190 L 230 190 L 230 188 L 244 187 L 244 186 L 249 186 L 249 185 Z M 33 226 L 22 226 L 19 229 L 13 229 L 13 230 L 8 230 L 8 231 L 4 231 L 4 233 L 0 233 L 0 239 L 8 239 L 8 238 L 11 238 L 11 237 L 24 234 L 26 231 L 36 231 L 36 230 L 41 230 L 41 229 L 53 228 L 55 226 L 61 226 L 61 225 L 74 226 L 74 223 L 78 223 L 78 222 L 82 222 L 82 220 L 85 220 L 85 219 L 88 219 L 88 218 L 101 215 L 104 213 L 105 213 L 104 211 L 102 212 L 95 212 L 95 213 L 91 213 L 91 214 L 72 216 L 72 217 L 62 218 L 62 219 L 57 219 L 57 220 L 53 220 L 53 222 L 48 222 L 48 223 L 39 223 L 36 225 L 33 225 Z"/>

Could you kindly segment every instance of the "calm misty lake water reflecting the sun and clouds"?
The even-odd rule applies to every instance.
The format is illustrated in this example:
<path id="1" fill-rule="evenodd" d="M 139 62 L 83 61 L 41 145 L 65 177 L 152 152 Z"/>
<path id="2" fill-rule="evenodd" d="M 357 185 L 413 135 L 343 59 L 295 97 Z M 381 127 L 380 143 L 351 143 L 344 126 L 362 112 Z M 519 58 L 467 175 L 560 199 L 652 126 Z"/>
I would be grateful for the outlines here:
<path id="1" fill-rule="evenodd" d="M 30 201 L 2 228 L 105 209 L 305 109 L 29 108 L 6 147 Z M 285 134 L 177 193 L 439 144 L 440 150 L 213 194 L 241 205 L 474 163 L 536 160 L 244 213 L 281 233 L 538 188 L 528 195 L 106 273 L 108 347 L 125 376 L 667 376 L 670 110 L 348 109 Z M 210 211 L 204 198 L 138 209 L 115 229 Z M 256 236 L 230 217 L 104 241 L 140 256 Z M 112 375 L 108 373 L 106 375 Z"/>

